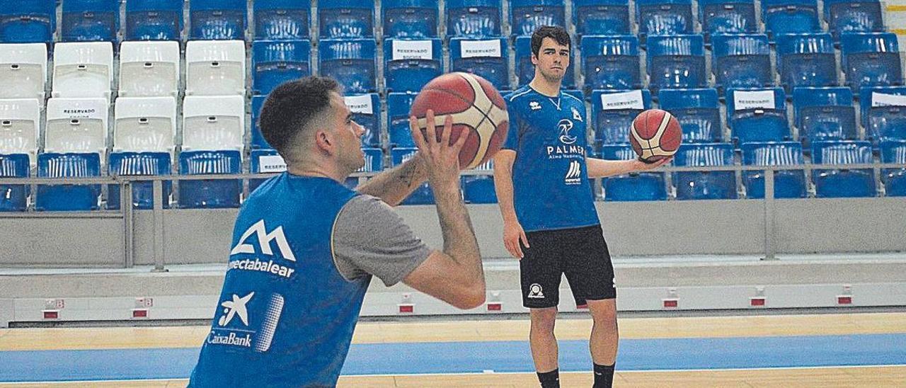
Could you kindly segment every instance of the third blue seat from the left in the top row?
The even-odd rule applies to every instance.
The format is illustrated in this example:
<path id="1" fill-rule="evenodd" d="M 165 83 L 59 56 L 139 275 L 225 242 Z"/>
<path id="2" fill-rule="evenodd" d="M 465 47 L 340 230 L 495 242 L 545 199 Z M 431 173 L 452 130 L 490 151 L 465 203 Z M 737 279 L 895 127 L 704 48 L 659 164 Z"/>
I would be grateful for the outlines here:
<path id="1" fill-rule="evenodd" d="M 126 0 L 127 41 L 178 41 L 182 0 Z"/>

